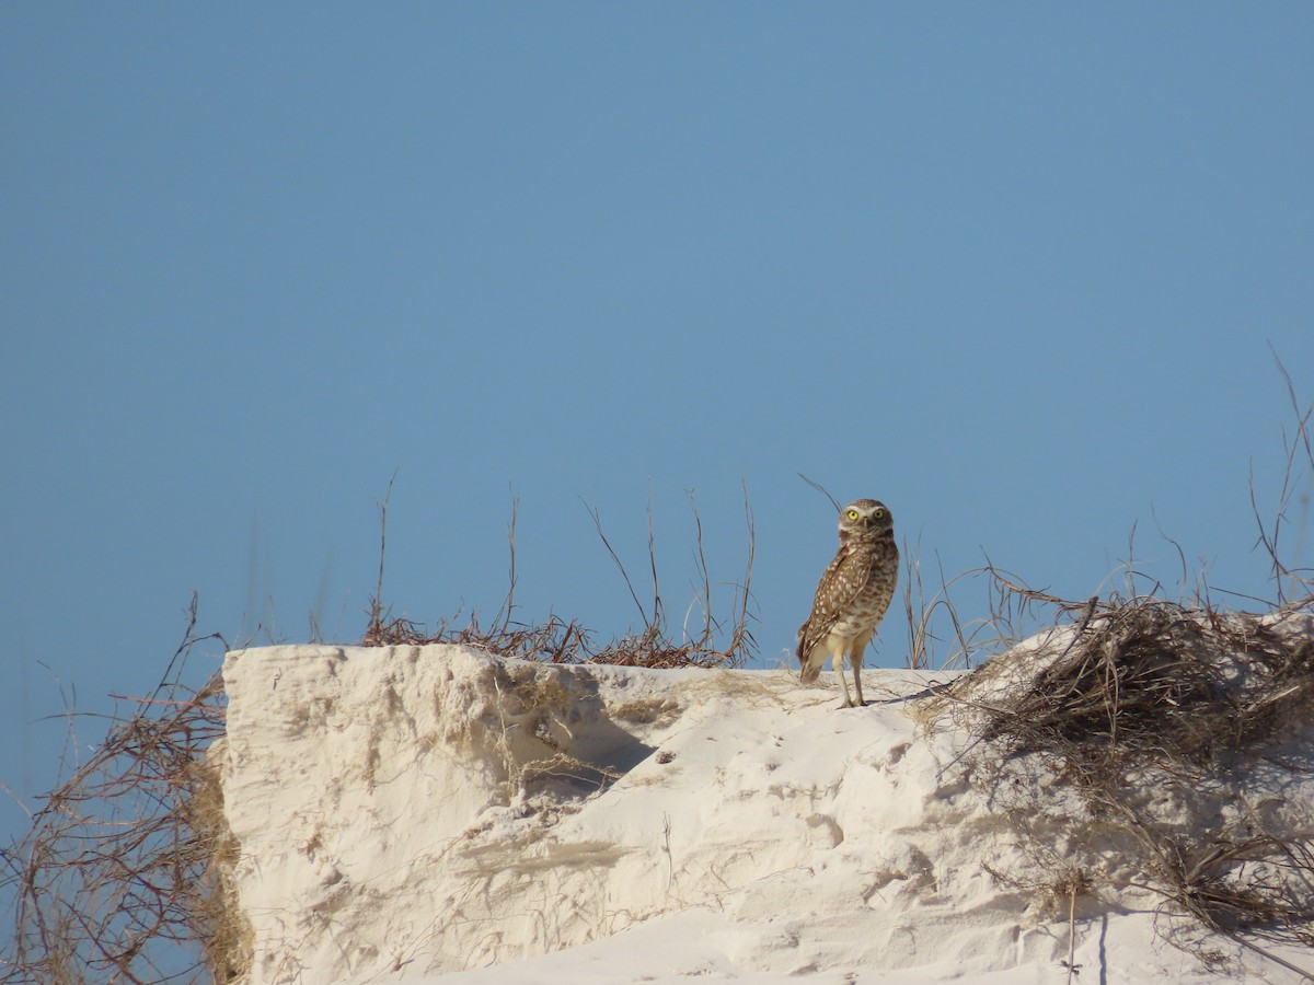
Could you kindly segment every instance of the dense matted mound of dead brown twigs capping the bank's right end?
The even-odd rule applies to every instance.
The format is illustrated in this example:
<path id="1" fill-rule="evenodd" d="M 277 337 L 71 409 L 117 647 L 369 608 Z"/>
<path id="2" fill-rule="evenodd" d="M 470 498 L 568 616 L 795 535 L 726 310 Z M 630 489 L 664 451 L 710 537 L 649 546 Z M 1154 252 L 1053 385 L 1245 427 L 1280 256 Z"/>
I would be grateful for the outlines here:
<path id="1" fill-rule="evenodd" d="M 1091 599 L 1075 628 L 987 663 L 955 690 L 983 739 L 1063 753 L 1084 784 L 1144 762 L 1209 767 L 1314 705 L 1314 636 L 1301 604 L 1268 616 L 1155 598 Z M 982 718 L 984 716 L 984 718 Z"/>

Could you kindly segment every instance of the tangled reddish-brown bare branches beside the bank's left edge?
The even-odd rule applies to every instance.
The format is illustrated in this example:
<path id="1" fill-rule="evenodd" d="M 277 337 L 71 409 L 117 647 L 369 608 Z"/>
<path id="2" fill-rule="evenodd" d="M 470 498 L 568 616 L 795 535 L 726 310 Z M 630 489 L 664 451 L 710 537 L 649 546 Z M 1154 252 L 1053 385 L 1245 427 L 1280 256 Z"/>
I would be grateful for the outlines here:
<path id="1" fill-rule="evenodd" d="M 215 638 L 194 630 L 193 598 L 160 686 L 133 699 L 0 855 L 14 909 L 0 980 L 230 981 L 246 967 L 247 929 L 221 864 L 237 846 L 204 759 L 223 734 L 223 686 L 181 683 L 193 647 Z"/>

